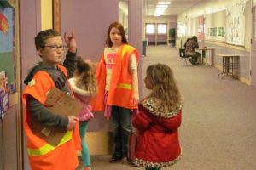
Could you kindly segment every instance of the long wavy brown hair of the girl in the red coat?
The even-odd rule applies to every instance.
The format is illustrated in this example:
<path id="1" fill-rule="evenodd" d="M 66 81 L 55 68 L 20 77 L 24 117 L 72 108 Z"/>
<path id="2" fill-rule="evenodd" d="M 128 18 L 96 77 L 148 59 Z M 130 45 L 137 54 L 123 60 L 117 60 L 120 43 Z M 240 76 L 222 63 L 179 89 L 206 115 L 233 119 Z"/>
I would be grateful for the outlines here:
<path id="1" fill-rule="evenodd" d="M 165 64 L 149 65 L 147 77 L 153 88 L 150 96 L 161 99 L 160 107 L 168 111 L 177 110 L 181 105 L 181 96 L 172 69 Z"/>

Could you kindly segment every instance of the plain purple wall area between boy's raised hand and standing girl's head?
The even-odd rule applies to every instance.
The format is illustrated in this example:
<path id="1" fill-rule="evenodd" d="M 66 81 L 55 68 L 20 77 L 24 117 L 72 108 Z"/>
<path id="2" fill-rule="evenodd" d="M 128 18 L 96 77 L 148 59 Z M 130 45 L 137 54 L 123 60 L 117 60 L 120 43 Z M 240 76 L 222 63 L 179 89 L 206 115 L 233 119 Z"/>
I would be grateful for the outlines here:
<path id="1" fill-rule="evenodd" d="M 113 21 L 119 21 L 119 0 L 61 1 L 61 32 L 74 31 L 84 59 L 100 59 Z"/>

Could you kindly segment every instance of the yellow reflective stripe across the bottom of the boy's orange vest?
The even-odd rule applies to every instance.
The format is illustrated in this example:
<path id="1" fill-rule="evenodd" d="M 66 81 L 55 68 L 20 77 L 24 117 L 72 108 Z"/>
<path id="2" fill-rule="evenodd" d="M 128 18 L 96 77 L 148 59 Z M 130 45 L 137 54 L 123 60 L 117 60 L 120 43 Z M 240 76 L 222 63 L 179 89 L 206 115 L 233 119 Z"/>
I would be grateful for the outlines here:
<path id="1" fill-rule="evenodd" d="M 38 149 L 29 149 L 29 148 L 27 148 L 27 154 L 29 156 L 45 155 L 45 154 L 49 153 L 51 150 L 55 150 L 56 147 L 60 146 L 61 144 L 66 143 L 67 141 L 69 141 L 71 139 L 72 139 L 72 131 L 67 131 L 67 133 L 61 139 L 60 144 L 58 144 L 57 146 L 53 146 L 53 145 L 50 145 L 50 144 L 44 144 L 44 146 L 42 146 L 41 148 L 38 148 Z"/>

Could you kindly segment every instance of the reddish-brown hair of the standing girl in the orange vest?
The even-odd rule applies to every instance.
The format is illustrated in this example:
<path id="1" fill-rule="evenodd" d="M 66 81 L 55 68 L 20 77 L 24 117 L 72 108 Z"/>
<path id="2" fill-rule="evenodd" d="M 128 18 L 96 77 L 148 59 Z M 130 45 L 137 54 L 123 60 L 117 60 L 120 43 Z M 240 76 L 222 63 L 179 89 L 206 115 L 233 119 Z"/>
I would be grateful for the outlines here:
<path id="1" fill-rule="evenodd" d="M 106 40 L 106 44 L 108 46 L 108 48 L 111 48 L 113 46 L 113 42 L 111 42 L 111 39 L 110 39 L 110 31 L 111 29 L 115 27 L 117 29 L 119 29 L 120 33 L 121 33 L 121 37 L 122 37 L 122 43 L 128 43 L 127 42 L 127 39 L 125 37 L 125 29 L 124 27 L 122 26 L 121 23 L 119 22 L 113 22 L 109 27 L 108 27 L 108 35 L 107 35 L 107 40 Z"/>

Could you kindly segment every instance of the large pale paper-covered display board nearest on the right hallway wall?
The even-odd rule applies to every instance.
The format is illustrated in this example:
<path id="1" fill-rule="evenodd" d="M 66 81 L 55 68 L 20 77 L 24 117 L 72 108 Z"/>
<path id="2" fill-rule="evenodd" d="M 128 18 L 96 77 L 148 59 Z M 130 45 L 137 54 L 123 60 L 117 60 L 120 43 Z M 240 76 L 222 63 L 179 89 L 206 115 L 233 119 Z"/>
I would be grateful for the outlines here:
<path id="1" fill-rule="evenodd" d="M 245 3 L 237 3 L 226 12 L 226 42 L 232 45 L 245 45 Z"/>

